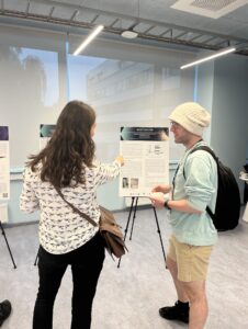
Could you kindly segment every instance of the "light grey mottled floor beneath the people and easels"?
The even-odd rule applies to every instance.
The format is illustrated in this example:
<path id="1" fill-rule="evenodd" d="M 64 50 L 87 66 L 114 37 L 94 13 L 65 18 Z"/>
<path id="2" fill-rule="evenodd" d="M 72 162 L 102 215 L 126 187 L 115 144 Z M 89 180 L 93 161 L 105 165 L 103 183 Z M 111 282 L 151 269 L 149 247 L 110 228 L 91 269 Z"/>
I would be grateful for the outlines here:
<path id="1" fill-rule="evenodd" d="M 165 209 L 158 211 L 165 249 L 170 227 Z M 128 213 L 116 213 L 125 227 Z M 13 306 L 3 329 L 32 328 L 32 313 L 37 291 L 37 224 L 7 227 L 5 235 L 18 268 L 13 269 L 7 245 L 0 236 L 0 300 Z M 165 268 L 161 245 L 153 209 L 138 209 L 129 252 L 121 266 L 106 254 L 93 304 L 92 329 L 167 329 L 187 325 L 159 317 L 158 308 L 171 305 L 176 293 Z M 248 224 L 240 220 L 232 231 L 221 232 L 213 251 L 207 280 L 210 315 L 207 329 L 248 328 Z M 70 328 L 71 276 L 68 269 L 54 309 L 54 329 Z M 45 329 L 45 328 L 44 328 Z"/>

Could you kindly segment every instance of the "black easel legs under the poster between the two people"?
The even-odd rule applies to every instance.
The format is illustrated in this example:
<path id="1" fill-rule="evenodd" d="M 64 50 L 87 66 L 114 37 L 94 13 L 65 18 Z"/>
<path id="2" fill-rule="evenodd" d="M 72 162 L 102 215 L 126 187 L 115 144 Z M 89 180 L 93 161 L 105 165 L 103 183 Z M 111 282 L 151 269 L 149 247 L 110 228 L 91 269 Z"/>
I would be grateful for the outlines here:
<path id="1" fill-rule="evenodd" d="M 125 230 L 124 230 L 124 241 L 126 239 L 126 235 L 127 235 L 127 230 L 128 230 L 128 226 L 129 226 L 129 220 L 131 220 L 132 213 L 133 213 L 133 222 L 132 222 L 131 235 L 129 235 L 129 240 L 132 240 L 134 220 L 136 218 L 137 204 L 138 204 L 138 196 L 132 196 L 131 208 L 129 208 L 129 213 L 128 213 L 128 217 L 127 217 L 127 222 L 126 222 L 126 227 L 125 227 Z M 165 260 L 165 263 L 166 263 L 166 252 L 165 252 L 165 248 L 164 248 L 164 243 L 162 243 L 161 231 L 160 231 L 160 227 L 159 227 L 159 223 L 158 223 L 158 216 L 157 216 L 156 208 L 154 206 L 153 206 L 153 209 L 154 209 L 155 220 L 156 220 L 156 225 L 157 225 L 157 229 L 158 229 L 159 240 L 160 240 L 160 243 L 161 243 L 162 256 L 164 256 L 164 260 Z M 119 260 L 117 268 L 120 268 L 121 260 L 122 260 L 122 258 L 120 258 L 120 260 Z"/>

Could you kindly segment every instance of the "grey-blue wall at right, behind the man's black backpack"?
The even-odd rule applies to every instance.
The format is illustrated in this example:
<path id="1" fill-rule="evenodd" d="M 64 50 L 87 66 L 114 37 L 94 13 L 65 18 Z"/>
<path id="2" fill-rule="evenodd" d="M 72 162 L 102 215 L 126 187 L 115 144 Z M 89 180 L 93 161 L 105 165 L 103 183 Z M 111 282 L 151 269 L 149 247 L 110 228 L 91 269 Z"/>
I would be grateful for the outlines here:
<path id="1" fill-rule="evenodd" d="M 211 145 L 238 180 L 248 147 L 248 58 L 228 55 L 200 67 L 199 101 L 211 106 Z"/>

